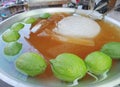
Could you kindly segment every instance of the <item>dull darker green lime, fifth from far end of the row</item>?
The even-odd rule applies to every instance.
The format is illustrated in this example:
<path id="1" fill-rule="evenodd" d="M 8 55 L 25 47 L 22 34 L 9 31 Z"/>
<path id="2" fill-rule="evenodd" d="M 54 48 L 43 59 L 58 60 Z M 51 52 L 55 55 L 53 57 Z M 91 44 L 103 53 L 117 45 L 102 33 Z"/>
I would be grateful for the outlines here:
<path id="1" fill-rule="evenodd" d="M 20 52 L 22 44 L 19 42 L 10 42 L 4 48 L 4 53 L 9 56 L 14 56 Z"/>

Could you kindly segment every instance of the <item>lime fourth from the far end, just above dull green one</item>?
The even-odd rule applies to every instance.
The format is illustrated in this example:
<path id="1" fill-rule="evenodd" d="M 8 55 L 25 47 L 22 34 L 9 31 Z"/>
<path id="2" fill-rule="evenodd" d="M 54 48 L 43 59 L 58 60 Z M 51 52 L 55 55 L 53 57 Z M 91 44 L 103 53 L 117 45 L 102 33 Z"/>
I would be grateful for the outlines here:
<path id="1" fill-rule="evenodd" d="M 20 34 L 16 31 L 13 30 L 6 30 L 3 34 L 2 34 L 2 39 L 5 42 L 12 42 L 12 41 L 17 41 L 20 38 Z"/>

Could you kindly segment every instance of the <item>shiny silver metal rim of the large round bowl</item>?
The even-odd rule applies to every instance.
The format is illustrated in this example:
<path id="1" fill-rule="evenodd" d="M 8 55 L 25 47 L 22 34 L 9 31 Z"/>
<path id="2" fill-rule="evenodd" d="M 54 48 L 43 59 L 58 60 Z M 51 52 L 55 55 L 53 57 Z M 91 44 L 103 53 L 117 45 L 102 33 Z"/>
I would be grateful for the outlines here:
<path id="1" fill-rule="evenodd" d="M 23 18 L 25 18 L 26 16 L 33 16 L 33 15 L 38 15 L 42 12 L 61 12 L 62 10 L 64 9 L 64 12 L 74 12 L 74 8 L 41 8 L 41 9 L 36 9 L 36 10 L 31 10 L 31 11 L 27 11 L 27 12 L 23 12 L 23 13 L 19 13 L 19 14 L 16 14 L 4 21 L 2 21 L 0 23 L 0 26 L 1 26 L 1 31 L 4 31 L 4 27 L 5 27 L 5 24 L 7 23 L 8 24 L 8 21 L 11 20 L 11 23 L 8 24 L 11 25 L 15 22 L 15 18 L 18 18 L 18 20 L 22 20 Z M 37 14 L 36 14 L 37 12 Z M 21 16 L 22 15 L 22 16 Z M 105 21 L 112 21 L 113 24 L 117 25 L 118 27 L 120 27 L 120 22 L 109 17 L 109 16 L 105 16 L 104 17 L 104 20 Z M 12 86 L 17 86 L 17 87 L 33 87 L 31 86 L 31 84 L 28 84 L 28 83 L 25 83 L 24 81 L 20 81 L 12 76 L 10 76 L 8 73 L 4 72 L 1 68 L 0 68 L 0 79 L 3 80 L 4 82 L 12 85 Z M 25 83 L 25 84 L 23 84 Z M 118 77 L 117 79 L 113 80 L 112 82 L 108 82 L 106 84 L 102 84 L 100 86 L 96 86 L 95 87 L 113 87 L 117 84 L 120 84 L 120 77 Z M 39 86 L 40 87 L 40 86 Z M 93 87 L 93 86 L 92 86 Z"/>

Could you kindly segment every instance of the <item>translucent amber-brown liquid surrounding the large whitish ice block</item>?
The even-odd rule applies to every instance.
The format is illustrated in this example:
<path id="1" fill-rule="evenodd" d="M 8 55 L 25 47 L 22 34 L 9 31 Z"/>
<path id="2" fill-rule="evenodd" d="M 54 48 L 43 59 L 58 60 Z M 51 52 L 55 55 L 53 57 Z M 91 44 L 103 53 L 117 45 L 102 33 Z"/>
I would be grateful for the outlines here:
<path id="1" fill-rule="evenodd" d="M 73 53 L 84 59 L 89 53 L 99 51 L 105 43 L 112 41 L 120 42 L 120 31 L 115 26 L 112 26 L 110 23 L 104 21 L 97 21 L 101 27 L 101 32 L 96 38 L 93 39 L 95 46 L 83 46 L 68 42 L 62 42 L 54 40 L 51 36 L 46 35 L 44 32 L 46 29 L 54 29 L 58 21 L 69 15 L 70 14 L 65 13 L 54 14 L 47 20 L 38 19 L 38 22 L 32 26 L 34 27 L 35 25 L 42 23 L 41 28 L 34 33 L 30 33 L 30 38 L 26 40 L 48 61 L 48 68 L 46 72 L 43 75 L 38 76 L 39 78 L 42 77 L 44 79 L 50 79 L 50 77 L 54 77 L 51 72 L 49 60 L 55 58 L 61 53 Z M 89 78 L 89 76 L 87 77 Z"/>

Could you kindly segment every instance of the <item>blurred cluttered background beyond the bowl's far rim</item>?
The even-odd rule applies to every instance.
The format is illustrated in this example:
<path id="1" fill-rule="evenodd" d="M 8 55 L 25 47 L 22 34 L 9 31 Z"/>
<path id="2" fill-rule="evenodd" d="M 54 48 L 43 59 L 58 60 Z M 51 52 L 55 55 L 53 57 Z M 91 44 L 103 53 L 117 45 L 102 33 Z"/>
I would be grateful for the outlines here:
<path id="1" fill-rule="evenodd" d="M 79 1 L 77 3 L 76 1 Z M 91 7 L 91 3 L 93 7 Z M 91 9 L 96 8 L 101 4 L 105 4 L 103 8 L 98 9 L 100 13 L 105 13 L 108 10 L 108 2 L 114 1 L 114 4 L 120 2 L 120 0 L 0 0 L 0 21 L 13 16 L 15 14 L 46 7 L 69 7 L 78 9 Z M 116 11 L 120 11 L 120 4 L 117 4 L 115 8 Z"/>

